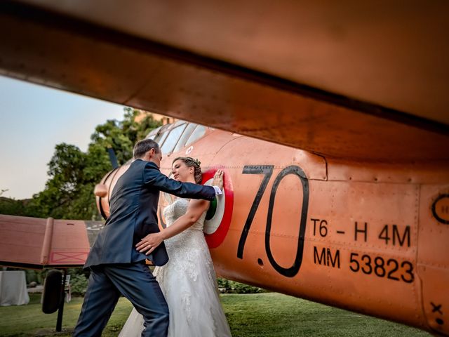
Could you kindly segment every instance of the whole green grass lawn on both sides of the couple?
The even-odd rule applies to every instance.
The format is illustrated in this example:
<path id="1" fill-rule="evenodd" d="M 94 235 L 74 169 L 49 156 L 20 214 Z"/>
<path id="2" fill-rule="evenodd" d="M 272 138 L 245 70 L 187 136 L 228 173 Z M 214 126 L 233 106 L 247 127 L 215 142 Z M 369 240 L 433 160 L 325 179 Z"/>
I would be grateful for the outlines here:
<path id="1" fill-rule="evenodd" d="M 73 329 L 82 298 L 65 303 L 63 329 Z M 279 293 L 222 295 L 232 336 L 430 336 L 418 329 L 355 314 Z M 131 304 L 120 298 L 102 336 L 117 336 Z M 43 336 L 55 329 L 57 312 L 41 312 L 40 294 L 30 294 L 28 305 L 0 307 L 0 336 Z M 39 331 L 41 333 L 39 334 Z M 70 333 L 58 334 L 70 336 Z"/>

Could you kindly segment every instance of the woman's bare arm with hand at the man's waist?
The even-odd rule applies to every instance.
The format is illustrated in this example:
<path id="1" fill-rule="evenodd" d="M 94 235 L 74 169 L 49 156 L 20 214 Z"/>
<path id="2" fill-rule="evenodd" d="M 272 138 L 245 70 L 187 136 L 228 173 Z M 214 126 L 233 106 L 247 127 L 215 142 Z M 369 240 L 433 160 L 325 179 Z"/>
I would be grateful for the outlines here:
<path id="1" fill-rule="evenodd" d="M 203 214 L 209 207 L 210 201 L 207 200 L 195 200 L 192 199 L 187 207 L 187 212 L 175 220 L 175 222 L 166 227 L 164 230 L 158 233 L 148 234 L 144 237 L 135 248 L 140 251 L 140 253 L 152 253 L 163 240 L 170 237 L 174 237 L 176 234 L 187 230 L 199 219 L 201 214 Z"/>

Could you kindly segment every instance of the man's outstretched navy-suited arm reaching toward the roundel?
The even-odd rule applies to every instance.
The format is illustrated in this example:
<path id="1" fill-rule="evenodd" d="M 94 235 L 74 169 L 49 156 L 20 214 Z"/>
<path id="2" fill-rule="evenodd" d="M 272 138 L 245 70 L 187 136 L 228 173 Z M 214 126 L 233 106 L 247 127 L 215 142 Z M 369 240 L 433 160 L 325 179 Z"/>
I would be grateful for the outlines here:
<path id="1" fill-rule="evenodd" d="M 215 194 L 220 194 L 212 186 L 181 183 L 170 179 L 152 163 L 145 165 L 144 181 L 146 185 L 152 185 L 162 192 L 174 194 L 181 198 L 213 200 Z"/>

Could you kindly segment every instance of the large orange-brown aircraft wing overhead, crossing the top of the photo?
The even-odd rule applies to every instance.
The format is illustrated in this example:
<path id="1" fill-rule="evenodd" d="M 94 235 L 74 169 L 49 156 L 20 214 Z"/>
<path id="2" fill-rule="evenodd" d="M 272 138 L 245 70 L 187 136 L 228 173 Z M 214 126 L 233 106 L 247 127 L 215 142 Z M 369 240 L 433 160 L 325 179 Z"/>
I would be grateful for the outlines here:
<path id="1" fill-rule="evenodd" d="M 0 74 L 326 157 L 449 159 L 447 1 L 1 1 Z"/>

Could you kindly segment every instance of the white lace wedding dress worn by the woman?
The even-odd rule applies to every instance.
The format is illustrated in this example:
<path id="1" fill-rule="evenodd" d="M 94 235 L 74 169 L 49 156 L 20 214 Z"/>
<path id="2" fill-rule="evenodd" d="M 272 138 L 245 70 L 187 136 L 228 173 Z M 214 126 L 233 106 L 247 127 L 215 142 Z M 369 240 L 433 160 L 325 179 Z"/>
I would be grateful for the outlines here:
<path id="1" fill-rule="evenodd" d="M 183 216 L 188 199 L 176 199 L 163 215 L 167 226 Z M 168 303 L 169 337 L 231 336 L 218 296 L 217 279 L 203 234 L 206 212 L 184 232 L 165 240 L 168 263 L 153 275 Z M 133 309 L 119 337 L 140 337 L 143 317 Z"/>

